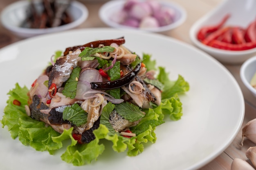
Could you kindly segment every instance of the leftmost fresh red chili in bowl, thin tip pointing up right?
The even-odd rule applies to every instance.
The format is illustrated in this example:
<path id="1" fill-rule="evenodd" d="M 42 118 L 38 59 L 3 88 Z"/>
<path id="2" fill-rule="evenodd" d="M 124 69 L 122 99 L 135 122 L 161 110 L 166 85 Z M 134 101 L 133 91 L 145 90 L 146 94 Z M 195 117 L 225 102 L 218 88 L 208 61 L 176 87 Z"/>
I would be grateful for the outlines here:
<path id="1" fill-rule="evenodd" d="M 212 25 L 212 26 L 202 27 L 198 32 L 198 40 L 202 41 L 207 37 L 207 35 L 209 33 L 212 33 L 214 31 L 217 31 L 218 29 L 220 29 L 220 27 L 222 27 L 222 25 L 225 24 L 225 22 L 227 21 L 227 19 L 229 17 L 230 17 L 230 15 L 227 14 L 218 24 Z"/>

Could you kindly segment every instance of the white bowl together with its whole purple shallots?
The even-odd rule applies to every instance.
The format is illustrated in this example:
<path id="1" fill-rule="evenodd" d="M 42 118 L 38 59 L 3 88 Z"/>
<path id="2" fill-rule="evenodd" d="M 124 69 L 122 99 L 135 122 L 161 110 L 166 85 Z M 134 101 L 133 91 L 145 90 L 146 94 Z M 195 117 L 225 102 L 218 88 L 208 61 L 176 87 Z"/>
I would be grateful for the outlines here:
<path id="1" fill-rule="evenodd" d="M 111 0 L 99 10 L 109 27 L 148 32 L 164 32 L 180 26 L 186 11 L 173 2 L 157 0 Z"/>

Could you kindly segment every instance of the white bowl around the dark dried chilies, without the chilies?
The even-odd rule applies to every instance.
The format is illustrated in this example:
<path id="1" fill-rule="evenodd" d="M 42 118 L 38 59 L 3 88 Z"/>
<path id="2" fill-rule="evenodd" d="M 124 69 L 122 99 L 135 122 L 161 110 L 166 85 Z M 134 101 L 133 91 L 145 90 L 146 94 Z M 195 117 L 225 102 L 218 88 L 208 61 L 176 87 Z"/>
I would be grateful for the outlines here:
<path id="1" fill-rule="evenodd" d="M 30 29 L 20 27 L 21 23 L 26 18 L 26 10 L 29 5 L 30 1 L 20 0 L 4 8 L 1 13 L 2 25 L 6 29 L 12 31 L 13 34 L 16 34 L 22 38 L 72 29 L 81 25 L 81 23 L 83 23 L 88 18 L 88 9 L 80 2 L 72 1 L 70 7 L 67 9 L 73 20 L 69 24 L 46 29 Z"/>

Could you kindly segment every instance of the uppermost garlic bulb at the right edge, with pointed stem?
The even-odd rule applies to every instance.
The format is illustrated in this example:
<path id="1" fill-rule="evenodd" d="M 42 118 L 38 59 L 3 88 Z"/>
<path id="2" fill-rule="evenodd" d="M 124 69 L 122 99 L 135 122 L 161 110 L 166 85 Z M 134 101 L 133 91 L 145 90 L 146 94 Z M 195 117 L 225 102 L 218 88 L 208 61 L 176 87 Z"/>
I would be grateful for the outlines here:
<path id="1" fill-rule="evenodd" d="M 256 143 L 256 119 L 249 121 L 242 129 L 242 141 L 243 146 L 244 137 L 247 137 L 253 143 Z"/>

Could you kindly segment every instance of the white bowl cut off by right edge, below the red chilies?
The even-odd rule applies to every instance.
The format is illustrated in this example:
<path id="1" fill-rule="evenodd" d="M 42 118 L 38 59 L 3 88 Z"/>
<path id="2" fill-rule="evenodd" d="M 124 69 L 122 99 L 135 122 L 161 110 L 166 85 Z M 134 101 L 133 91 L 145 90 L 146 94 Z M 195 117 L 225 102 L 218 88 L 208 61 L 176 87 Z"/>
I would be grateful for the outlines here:
<path id="1" fill-rule="evenodd" d="M 256 89 L 250 84 L 252 77 L 256 73 L 256 56 L 246 60 L 240 68 L 240 77 L 244 85 L 256 97 Z"/>

